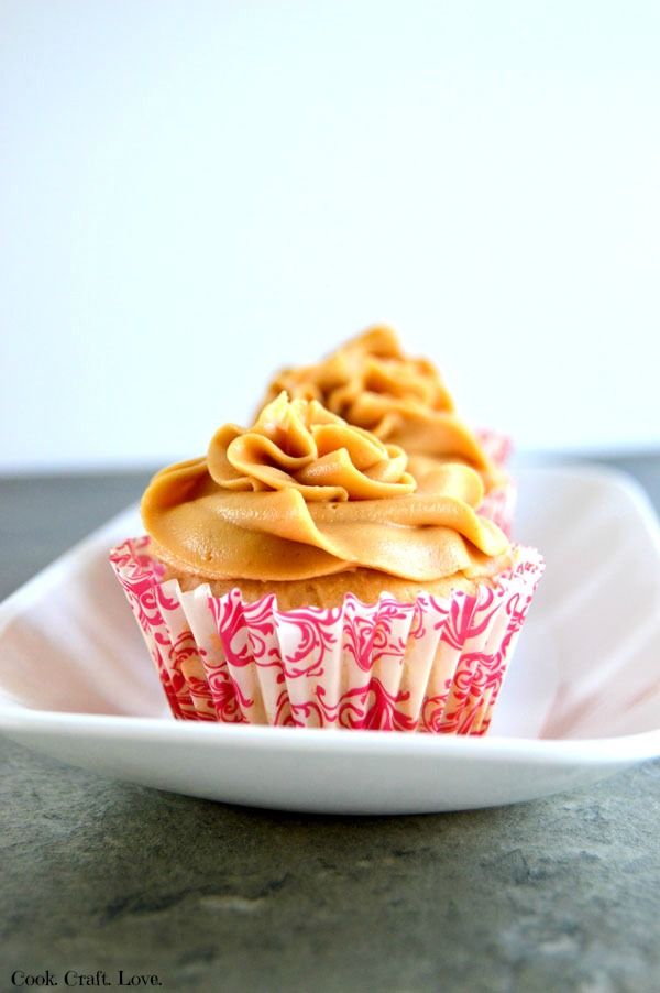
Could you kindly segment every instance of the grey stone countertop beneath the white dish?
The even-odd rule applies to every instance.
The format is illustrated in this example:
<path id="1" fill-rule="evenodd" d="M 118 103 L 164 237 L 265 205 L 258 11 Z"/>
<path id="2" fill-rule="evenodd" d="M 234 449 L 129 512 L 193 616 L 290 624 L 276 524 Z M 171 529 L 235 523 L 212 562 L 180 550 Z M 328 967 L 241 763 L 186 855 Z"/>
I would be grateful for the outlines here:
<path id="1" fill-rule="evenodd" d="M 660 456 L 601 461 L 660 505 Z M 0 480 L 0 598 L 145 479 Z M 348 818 L 190 799 L 0 749 L 2 991 L 14 970 L 48 970 L 59 989 L 101 970 L 117 989 L 156 974 L 166 990 L 228 993 L 660 991 L 660 763 L 514 807 Z"/>

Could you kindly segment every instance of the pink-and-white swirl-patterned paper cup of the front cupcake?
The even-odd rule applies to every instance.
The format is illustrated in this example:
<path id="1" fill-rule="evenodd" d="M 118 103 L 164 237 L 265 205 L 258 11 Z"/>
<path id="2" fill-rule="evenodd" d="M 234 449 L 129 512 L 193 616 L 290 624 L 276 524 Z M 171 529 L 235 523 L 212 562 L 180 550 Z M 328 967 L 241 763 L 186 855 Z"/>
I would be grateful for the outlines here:
<path id="1" fill-rule="evenodd" d="M 495 587 L 448 599 L 280 611 L 273 594 L 245 603 L 163 581 L 148 538 L 110 556 L 175 718 L 484 734 L 543 569 L 516 548 Z"/>

